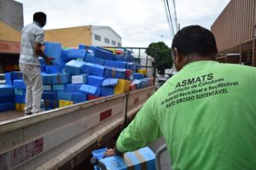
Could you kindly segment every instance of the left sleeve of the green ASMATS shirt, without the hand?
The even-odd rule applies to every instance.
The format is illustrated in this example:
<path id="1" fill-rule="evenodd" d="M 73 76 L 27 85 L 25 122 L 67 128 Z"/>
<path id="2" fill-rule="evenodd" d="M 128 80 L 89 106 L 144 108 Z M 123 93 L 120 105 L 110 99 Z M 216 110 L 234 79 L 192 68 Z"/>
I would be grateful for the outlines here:
<path id="1" fill-rule="evenodd" d="M 129 126 L 120 133 L 116 149 L 123 153 L 138 150 L 160 136 L 162 133 L 154 110 L 154 98 L 151 97 Z"/>

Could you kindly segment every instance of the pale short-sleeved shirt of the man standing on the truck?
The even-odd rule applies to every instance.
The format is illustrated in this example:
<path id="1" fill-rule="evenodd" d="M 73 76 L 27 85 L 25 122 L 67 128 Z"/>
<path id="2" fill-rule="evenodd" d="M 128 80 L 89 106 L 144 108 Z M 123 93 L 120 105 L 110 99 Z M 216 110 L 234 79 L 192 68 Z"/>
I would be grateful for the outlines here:
<path id="1" fill-rule="evenodd" d="M 21 32 L 20 63 L 28 65 L 40 65 L 38 54 L 36 54 L 35 42 L 44 45 L 44 30 L 38 22 L 33 21 L 25 26 Z"/>

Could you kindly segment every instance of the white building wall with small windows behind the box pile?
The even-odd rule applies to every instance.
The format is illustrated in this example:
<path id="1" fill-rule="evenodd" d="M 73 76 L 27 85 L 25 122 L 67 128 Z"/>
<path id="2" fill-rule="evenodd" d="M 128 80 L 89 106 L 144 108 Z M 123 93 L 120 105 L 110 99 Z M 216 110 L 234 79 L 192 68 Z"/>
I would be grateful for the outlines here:
<path id="1" fill-rule="evenodd" d="M 121 47 L 122 39 L 119 35 L 113 31 L 109 26 L 91 26 L 91 42 L 95 46 L 105 47 Z M 97 39 L 97 38 L 100 38 Z M 106 42 L 109 40 L 109 43 Z M 115 44 L 113 44 L 115 42 Z"/>

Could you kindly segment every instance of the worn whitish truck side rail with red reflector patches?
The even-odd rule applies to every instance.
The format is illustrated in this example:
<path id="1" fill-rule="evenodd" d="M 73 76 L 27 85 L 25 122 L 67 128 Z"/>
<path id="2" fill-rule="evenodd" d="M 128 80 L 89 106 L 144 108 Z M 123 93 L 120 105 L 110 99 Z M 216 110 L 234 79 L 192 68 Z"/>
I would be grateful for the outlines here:
<path id="1" fill-rule="evenodd" d="M 0 166 L 24 170 L 75 167 L 79 162 L 73 157 L 123 127 L 127 116 L 135 115 L 153 91 L 151 86 L 1 122 Z"/>

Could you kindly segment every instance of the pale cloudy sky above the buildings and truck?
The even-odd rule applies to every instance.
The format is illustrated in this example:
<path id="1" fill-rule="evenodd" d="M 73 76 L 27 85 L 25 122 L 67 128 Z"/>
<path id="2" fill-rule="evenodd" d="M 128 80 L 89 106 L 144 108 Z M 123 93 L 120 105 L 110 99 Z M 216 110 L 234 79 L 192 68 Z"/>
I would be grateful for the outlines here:
<path id="1" fill-rule="evenodd" d="M 45 30 L 74 26 L 110 26 L 122 37 L 123 47 L 146 48 L 151 42 L 172 44 L 163 0 L 15 0 L 23 3 L 24 25 L 32 14 L 47 14 Z M 230 0 L 177 0 L 180 28 L 200 25 L 211 29 Z M 169 0 L 174 20 L 172 0 Z M 174 27 L 174 32 L 177 32 Z"/>

